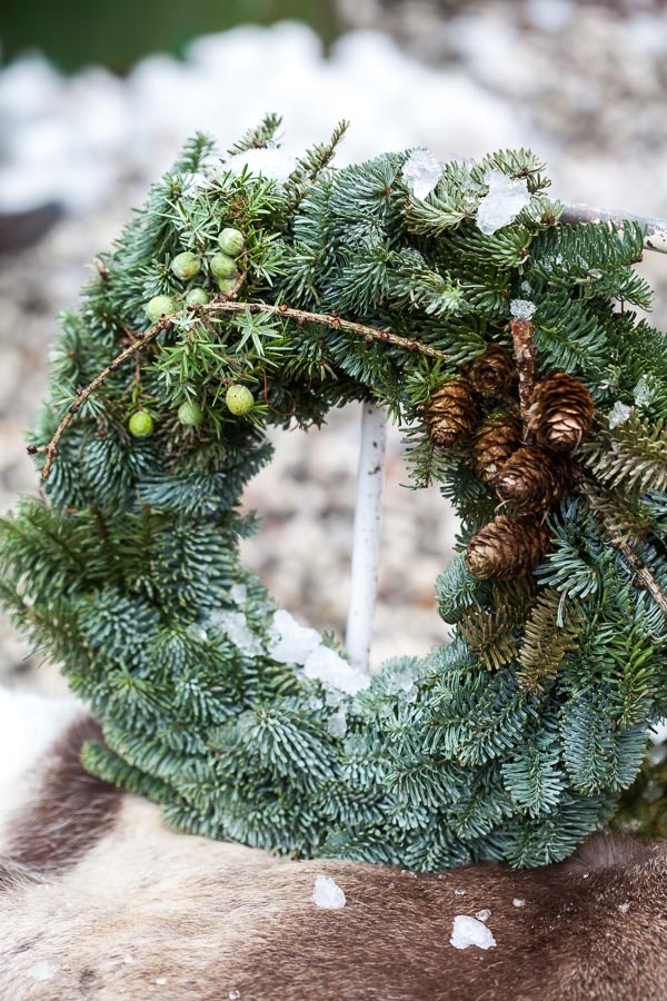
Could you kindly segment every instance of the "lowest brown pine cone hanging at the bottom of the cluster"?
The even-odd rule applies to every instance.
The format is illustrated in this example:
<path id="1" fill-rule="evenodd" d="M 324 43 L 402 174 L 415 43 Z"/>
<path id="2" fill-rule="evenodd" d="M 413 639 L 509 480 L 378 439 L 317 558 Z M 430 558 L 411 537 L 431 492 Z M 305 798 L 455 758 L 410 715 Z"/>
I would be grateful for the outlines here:
<path id="1" fill-rule="evenodd" d="M 539 518 L 498 515 L 468 543 L 466 566 L 482 581 L 514 581 L 539 563 L 548 546 L 549 533 Z"/>

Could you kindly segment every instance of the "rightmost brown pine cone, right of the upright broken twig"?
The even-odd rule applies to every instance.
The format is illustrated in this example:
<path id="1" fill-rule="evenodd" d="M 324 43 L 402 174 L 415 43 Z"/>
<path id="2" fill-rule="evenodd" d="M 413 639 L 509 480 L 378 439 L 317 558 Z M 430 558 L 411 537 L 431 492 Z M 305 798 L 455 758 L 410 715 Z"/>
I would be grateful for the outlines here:
<path id="1" fill-rule="evenodd" d="M 528 430 L 538 445 L 569 455 L 590 430 L 590 393 L 566 371 L 552 371 L 535 386 L 528 410 Z"/>

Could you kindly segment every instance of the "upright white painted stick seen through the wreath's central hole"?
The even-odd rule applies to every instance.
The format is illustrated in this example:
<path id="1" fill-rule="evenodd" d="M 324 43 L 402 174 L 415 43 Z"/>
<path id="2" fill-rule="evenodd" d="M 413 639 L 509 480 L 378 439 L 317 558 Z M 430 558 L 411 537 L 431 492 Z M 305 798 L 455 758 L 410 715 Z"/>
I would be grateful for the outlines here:
<path id="1" fill-rule="evenodd" d="M 364 404 L 352 539 L 350 603 L 345 634 L 345 645 L 350 662 L 360 671 L 368 671 L 372 620 L 378 593 L 386 448 L 387 415 L 385 408 L 376 407 L 374 404 Z"/>

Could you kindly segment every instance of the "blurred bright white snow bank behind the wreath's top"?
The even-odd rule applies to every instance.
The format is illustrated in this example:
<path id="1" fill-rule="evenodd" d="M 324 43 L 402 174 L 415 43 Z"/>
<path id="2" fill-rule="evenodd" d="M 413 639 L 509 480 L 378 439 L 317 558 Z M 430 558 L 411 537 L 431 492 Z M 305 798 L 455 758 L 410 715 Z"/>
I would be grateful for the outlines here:
<path id="1" fill-rule="evenodd" d="M 379 32 L 351 32 L 325 58 L 305 26 L 247 26 L 196 41 L 183 61 L 150 56 L 127 80 L 99 67 L 63 78 L 38 54 L 8 67 L 0 206 L 54 198 L 90 211 L 119 181 L 167 169 L 192 132 L 231 145 L 268 110 L 283 115 L 285 148 L 295 153 L 348 118 L 341 163 L 411 145 L 442 159 L 525 142 L 506 101 L 466 71 L 405 56 Z"/>

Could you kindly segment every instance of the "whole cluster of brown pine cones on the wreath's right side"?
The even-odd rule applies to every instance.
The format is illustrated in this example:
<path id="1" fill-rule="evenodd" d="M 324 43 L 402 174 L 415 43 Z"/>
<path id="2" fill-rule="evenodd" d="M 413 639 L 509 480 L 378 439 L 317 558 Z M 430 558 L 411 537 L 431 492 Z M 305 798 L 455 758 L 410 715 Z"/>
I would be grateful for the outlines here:
<path id="1" fill-rule="evenodd" d="M 571 454 L 593 422 L 590 394 L 574 376 L 544 375 L 524 419 L 517 381 L 509 353 L 489 344 L 424 406 L 432 443 L 470 447 L 478 476 L 509 509 L 468 544 L 466 565 L 485 579 L 511 581 L 542 558 L 549 545 L 545 516 L 574 486 Z"/>

